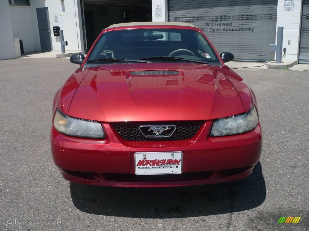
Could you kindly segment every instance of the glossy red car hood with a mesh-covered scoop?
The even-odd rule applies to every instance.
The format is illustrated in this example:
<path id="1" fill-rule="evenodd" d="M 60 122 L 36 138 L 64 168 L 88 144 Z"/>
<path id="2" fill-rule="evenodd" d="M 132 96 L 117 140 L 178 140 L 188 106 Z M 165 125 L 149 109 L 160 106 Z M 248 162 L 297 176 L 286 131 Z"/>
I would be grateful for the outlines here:
<path id="1" fill-rule="evenodd" d="M 87 68 L 68 112 L 73 117 L 103 122 L 212 120 L 245 112 L 221 66 L 126 63 Z"/>

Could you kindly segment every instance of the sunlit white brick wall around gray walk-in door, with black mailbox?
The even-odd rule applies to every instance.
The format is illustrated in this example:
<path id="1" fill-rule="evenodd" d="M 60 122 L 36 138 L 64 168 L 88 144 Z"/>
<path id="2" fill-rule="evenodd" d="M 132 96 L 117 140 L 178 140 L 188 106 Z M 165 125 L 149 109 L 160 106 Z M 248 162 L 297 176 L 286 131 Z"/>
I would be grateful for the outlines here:
<path id="1" fill-rule="evenodd" d="M 74 2 L 78 33 L 76 31 Z M 82 29 L 80 29 L 81 15 L 78 14 L 78 10 L 80 10 L 79 0 L 30 0 L 30 7 L 36 51 L 41 50 L 36 8 L 42 7 L 48 7 L 53 51 L 61 51 L 60 36 L 53 35 L 53 26 L 59 26 L 60 30 L 63 30 L 64 40 L 68 41 L 68 46 L 65 47 L 66 52 L 78 52 L 78 44 L 79 50 L 84 50 L 83 41 L 81 40 L 83 39 Z M 54 21 L 54 14 L 58 15 L 58 22 Z"/>

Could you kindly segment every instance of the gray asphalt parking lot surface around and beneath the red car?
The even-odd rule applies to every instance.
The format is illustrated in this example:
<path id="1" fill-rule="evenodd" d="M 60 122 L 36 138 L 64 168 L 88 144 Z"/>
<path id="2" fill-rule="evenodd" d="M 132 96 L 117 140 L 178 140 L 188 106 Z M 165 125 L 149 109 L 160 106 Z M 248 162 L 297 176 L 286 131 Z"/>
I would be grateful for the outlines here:
<path id="1" fill-rule="evenodd" d="M 73 184 L 53 164 L 53 96 L 77 65 L 57 58 L 0 65 L 0 230 L 309 230 L 308 71 L 235 70 L 256 93 L 264 135 L 250 177 L 151 189 Z M 280 217 L 301 219 L 278 224 Z"/>

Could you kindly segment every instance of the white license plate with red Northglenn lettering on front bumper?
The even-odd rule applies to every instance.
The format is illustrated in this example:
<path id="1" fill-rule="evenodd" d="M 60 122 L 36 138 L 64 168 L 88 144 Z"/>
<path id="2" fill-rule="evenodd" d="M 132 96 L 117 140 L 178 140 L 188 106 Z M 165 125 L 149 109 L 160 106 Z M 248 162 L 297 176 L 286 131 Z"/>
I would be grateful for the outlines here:
<path id="1" fill-rule="evenodd" d="M 182 173 L 182 152 L 135 152 L 136 175 Z"/>

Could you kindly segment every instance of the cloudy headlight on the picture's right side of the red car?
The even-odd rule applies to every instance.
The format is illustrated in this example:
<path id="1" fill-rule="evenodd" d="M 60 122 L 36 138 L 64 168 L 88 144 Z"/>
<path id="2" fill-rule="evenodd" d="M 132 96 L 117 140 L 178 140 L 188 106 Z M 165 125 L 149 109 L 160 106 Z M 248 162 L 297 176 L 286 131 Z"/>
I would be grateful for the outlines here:
<path id="1" fill-rule="evenodd" d="M 211 129 L 210 136 L 228 136 L 249 132 L 259 123 L 255 106 L 245 114 L 233 115 L 216 120 Z"/>

